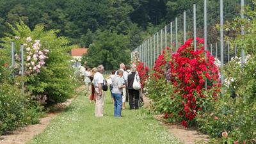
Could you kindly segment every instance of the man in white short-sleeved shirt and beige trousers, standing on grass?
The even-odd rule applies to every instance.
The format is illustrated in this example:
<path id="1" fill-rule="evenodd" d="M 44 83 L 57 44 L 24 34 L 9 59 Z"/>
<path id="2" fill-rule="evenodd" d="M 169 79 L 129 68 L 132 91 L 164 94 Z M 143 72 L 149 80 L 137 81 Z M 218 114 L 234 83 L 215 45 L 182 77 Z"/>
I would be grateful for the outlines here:
<path id="1" fill-rule="evenodd" d="M 96 94 L 96 104 L 95 104 L 95 116 L 103 116 L 103 106 L 104 106 L 104 91 L 102 91 L 102 84 L 104 77 L 102 73 L 104 72 L 104 67 L 99 65 L 97 67 L 97 72 L 93 76 L 93 84 L 95 86 Z"/>

